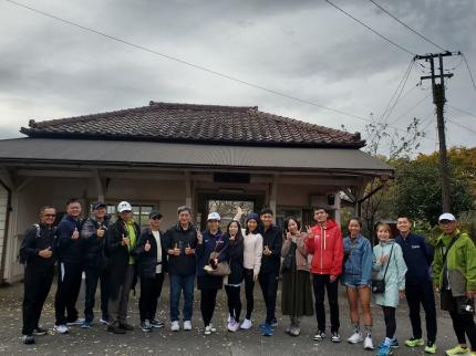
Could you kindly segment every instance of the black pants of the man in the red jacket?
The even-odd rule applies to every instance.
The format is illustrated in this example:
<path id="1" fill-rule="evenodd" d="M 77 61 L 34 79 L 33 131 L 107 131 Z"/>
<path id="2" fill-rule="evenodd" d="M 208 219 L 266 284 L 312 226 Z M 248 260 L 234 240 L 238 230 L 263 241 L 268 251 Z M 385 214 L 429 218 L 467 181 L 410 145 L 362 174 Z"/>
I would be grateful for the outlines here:
<path id="1" fill-rule="evenodd" d="M 312 287 L 315 299 L 315 318 L 318 329 L 325 332 L 325 311 L 324 311 L 324 291 L 328 291 L 329 307 L 331 310 L 331 333 L 338 333 L 339 322 L 339 302 L 338 302 L 339 282 L 331 282 L 329 274 L 312 274 Z"/>

